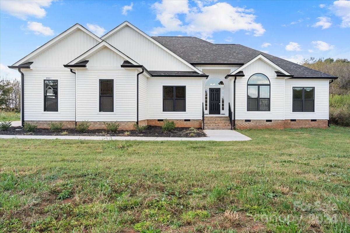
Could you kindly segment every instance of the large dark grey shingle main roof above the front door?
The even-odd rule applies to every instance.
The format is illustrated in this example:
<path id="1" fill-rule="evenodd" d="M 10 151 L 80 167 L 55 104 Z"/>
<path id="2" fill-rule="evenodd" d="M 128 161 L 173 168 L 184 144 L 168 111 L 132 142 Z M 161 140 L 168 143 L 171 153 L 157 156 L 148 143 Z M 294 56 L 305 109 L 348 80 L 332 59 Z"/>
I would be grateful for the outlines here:
<path id="1" fill-rule="evenodd" d="M 287 71 L 295 78 L 335 78 L 291 61 L 248 48 L 240 44 L 213 44 L 197 37 L 152 37 L 191 64 L 245 64 L 259 54 Z"/>

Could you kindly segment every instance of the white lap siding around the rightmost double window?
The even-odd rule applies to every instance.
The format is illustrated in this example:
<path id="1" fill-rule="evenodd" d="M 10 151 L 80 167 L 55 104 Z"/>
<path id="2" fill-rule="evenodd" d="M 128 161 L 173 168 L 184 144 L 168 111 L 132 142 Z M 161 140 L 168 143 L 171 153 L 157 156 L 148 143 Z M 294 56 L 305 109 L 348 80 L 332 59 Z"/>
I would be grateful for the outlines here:
<path id="1" fill-rule="evenodd" d="M 327 79 L 286 79 L 285 81 L 285 118 L 286 119 L 328 119 L 328 88 Z M 292 88 L 315 87 L 315 112 L 292 111 Z"/>

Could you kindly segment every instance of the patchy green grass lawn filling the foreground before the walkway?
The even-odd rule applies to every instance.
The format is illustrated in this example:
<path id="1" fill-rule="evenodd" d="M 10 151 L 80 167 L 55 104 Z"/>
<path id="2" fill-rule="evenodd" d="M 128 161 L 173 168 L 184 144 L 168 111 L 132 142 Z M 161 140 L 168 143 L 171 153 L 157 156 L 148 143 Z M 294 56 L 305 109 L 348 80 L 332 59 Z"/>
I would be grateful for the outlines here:
<path id="1" fill-rule="evenodd" d="M 253 140 L 1 139 L 0 230 L 350 232 L 350 128 L 239 132 Z"/>

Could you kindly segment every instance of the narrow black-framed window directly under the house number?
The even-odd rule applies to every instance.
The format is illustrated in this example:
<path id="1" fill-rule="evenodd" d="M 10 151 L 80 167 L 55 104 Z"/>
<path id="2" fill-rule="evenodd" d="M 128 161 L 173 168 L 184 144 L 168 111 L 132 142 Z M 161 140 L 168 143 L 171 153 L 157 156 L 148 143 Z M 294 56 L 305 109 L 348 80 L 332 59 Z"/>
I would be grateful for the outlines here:
<path id="1" fill-rule="evenodd" d="M 58 80 L 44 80 L 44 111 L 58 111 Z"/>

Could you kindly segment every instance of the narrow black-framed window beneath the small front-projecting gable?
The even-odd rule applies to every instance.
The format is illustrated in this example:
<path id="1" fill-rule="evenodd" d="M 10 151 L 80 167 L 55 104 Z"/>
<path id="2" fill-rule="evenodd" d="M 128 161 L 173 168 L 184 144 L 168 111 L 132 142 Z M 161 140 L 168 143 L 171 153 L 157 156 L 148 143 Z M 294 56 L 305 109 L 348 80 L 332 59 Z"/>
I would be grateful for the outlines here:
<path id="1" fill-rule="evenodd" d="M 100 79 L 100 112 L 113 112 L 113 79 Z"/>

